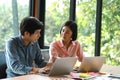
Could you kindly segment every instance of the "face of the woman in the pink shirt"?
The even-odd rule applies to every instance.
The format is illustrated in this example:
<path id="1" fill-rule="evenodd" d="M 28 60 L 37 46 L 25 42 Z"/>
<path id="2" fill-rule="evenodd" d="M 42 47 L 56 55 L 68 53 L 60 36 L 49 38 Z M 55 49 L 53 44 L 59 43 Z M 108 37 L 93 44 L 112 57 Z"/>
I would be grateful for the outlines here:
<path id="1" fill-rule="evenodd" d="M 69 27 L 64 26 L 61 30 L 61 38 L 63 41 L 72 40 L 72 31 Z"/>

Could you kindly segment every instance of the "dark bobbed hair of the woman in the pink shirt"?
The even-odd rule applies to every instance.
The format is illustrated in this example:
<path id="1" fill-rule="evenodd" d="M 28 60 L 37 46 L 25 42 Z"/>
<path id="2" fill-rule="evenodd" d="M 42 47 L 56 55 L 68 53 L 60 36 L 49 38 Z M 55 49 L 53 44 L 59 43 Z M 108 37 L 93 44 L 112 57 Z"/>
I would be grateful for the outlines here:
<path id="1" fill-rule="evenodd" d="M 69 27 L 70 30 L 72 31 L 72 41 L 77 39 L 77 24 L 74 21 L 72 20 L 66 21 L 60 29 L 60 34 L 63 27 Z"/>

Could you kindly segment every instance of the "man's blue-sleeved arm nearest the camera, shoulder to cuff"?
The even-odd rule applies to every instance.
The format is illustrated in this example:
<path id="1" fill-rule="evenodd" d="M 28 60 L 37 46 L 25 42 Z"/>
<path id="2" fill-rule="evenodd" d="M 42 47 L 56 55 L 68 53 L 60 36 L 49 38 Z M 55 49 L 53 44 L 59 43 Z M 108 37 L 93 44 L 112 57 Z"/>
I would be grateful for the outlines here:
<path id="1" fill-rule="evenodd" d="M 21 61 L 18 52 L 16 41 L 13 39 L 6 43 L 5 56 L 8 68 L 16 74 L 29 74 L 32 67 L 24 65 Z"/>

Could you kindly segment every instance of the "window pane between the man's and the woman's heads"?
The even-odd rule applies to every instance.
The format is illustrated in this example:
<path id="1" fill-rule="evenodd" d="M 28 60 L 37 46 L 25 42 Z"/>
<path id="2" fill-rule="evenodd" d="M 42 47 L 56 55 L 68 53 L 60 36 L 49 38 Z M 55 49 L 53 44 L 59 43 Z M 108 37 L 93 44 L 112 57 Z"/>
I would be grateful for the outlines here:
<path id="1" fill-rule="evenodd" d="M 69 20 L 70 0 L 46 0 L 45 46 L 60 38 L 62 24 Z"/>

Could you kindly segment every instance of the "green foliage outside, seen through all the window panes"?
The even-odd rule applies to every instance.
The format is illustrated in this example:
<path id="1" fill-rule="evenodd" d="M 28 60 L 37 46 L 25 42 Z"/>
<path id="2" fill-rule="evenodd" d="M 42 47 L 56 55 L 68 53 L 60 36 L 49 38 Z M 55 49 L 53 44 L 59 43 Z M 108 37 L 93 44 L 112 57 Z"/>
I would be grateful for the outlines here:
<path id="1" fill-rule="evenodd" d="M 14 1 L 14 0 L 13 0 Z M 52 1 L 52 0 L 50 0 Z M 76 22 L 78 40 L 83 50 L 90 56 L 95 49 L 96 0 L 76 0 Z M 54 0 L 46 9 L 45 44 L 60 38 L 59 30 L 69 19 L 69 1 Z M 12 8 L 0 5 L 0 51 L 5 41 L 14 36 Z M 61 6 L 62 5 L 62 6 Z M 18 22 L 28 15 L 28 6 L 18 4 Z M 101 56 L 106 56 L 106 64 L 120 65 L 120 1 L 103 0 Z"/>

